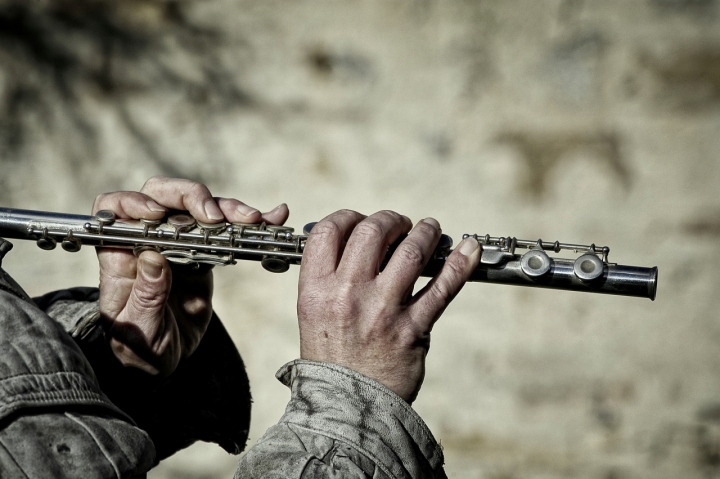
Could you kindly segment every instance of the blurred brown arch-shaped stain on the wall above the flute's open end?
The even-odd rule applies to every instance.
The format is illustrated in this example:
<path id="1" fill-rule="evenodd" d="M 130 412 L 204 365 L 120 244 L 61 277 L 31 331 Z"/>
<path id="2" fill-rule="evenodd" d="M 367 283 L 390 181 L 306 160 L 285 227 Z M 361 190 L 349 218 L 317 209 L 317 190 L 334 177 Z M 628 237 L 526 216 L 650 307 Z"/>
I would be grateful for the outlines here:
<path id="1" fill-rule="evenodd" d="M 510 145 L 520 153 L 525 167 L 524 179 L 519 185 L 523 195 L 543 198 L 550 173 L 574 153 L 590 154 L 625 189 L 630 188 L 630 171 L 621 152 L 620 137 L 615 132 L 508 131 L 499 134 L 495 141 Z"/>

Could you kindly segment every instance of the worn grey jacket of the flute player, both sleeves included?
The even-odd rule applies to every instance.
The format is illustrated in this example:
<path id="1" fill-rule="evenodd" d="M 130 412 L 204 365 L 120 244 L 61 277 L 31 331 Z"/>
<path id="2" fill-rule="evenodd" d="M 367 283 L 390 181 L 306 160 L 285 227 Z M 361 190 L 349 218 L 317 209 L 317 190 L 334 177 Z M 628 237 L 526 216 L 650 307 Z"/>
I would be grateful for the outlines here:
<path id="1" fill-rule="evenodd" d="M 96 289 L 31 300 L 0 269 L 0 478 L 144 476 L 196 440 L 244 449 L 247 375 L 217 317 L 162 381 L 123 368 L 98 320 Z M 285 415 L 236 478 L 445 477 L 422 419 L 381 384 L 300 360 L 277 376 L 292 391 Z"/>

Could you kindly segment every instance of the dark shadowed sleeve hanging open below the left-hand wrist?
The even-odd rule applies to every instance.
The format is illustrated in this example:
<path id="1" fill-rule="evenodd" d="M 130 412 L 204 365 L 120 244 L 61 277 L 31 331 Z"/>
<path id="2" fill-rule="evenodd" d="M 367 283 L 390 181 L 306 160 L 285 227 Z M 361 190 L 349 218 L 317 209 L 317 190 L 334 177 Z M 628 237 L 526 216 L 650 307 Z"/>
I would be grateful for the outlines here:
<path id="1" fill-rule="evenodd" d="M 168 378 L 124 367 L 98 327 L 97 288 L 72 288 L 34 298 L 71 335 L 92 364 L 102 391 L 147 431 L 162 460 L 195 441 L 230 454 L 245 449 L 252 399 L 245 365 L 213 313 L 195 352 Z"/>

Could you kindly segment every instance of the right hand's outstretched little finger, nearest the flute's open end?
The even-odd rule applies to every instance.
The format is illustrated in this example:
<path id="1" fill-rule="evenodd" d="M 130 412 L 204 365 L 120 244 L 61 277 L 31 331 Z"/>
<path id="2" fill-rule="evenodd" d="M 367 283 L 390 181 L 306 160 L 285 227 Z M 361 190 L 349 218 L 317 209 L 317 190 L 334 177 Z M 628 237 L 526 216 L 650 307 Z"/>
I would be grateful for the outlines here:
<path id="1" fill-rule="evenodd" d="M 440 272 L 411 300 L 411 317 L 422 328 L 430 328 L 455 295 L 462 289 L 480 263 L 480 247 L 476 239 L 465 238 L 450 253 Z"/>

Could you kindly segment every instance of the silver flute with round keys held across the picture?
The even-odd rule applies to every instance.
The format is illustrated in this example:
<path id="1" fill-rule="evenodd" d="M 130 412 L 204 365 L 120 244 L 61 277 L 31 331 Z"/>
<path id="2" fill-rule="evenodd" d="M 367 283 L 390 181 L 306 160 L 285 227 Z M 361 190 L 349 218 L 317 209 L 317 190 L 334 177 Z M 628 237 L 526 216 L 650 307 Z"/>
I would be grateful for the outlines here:
<path id="1" fill-rule="evenodd" d="M 262 224 L 203 223 L 187 214 L 163 220 L 118 219 L 108 210 L 94 216 L 0 208 L 0 237 L 32 240 L 46 250 L 60 243 L 65 251 L 82 245 L 127 248 L 140 254 L 152 249 L 168 261 L 197 267 L 229 265 L 238 260 L 260 261 L 271 272 L 282 273 L 300 264 L 308 234 L 315 223 L 295 234 L 293 228 Z M 610 248 L 594 244 L 521 240 L 509 236 L 463 235 L 481 248 L 480 264 L 470 281 L 538 288 L 635 296 L 655 300 L 657 267 L 626 266 L 608 261 Z M 422 272 L 435 276 L 452 251 L 453 241 L 442 235 Z M 386 261 L 395 245 L 390 246 Z M 516 253 L 526 249 L 524 254 Z M 548 252 L 572 250 L 575 259 L 551 257 Z"/>

